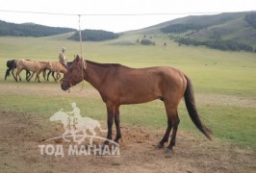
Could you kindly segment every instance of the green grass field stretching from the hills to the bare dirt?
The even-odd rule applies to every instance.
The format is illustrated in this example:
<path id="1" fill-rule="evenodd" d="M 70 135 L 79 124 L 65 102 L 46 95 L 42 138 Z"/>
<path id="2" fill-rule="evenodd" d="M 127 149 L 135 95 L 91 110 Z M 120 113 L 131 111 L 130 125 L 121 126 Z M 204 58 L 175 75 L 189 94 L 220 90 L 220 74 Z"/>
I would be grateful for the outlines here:
<path id="1" fill-rule="evenodd" d="M 106 119 L 99 94 L 87 83 L 81 92 L 62 91 L 53 81 L 4 81 L 6 62 L 11 59 L 58 61 L 63 46 L 68 61 L 80 54 L 78 42 L 58 37 L 0 37 L 0 110 L 30 112 L 49 118 L 75 101 L 82 114 Z M 256 150 L 256 54 L 222 52 L 205 47 L 178 46 L 155 37 L 156 46 L 136 44 L 140 35 L 126 34 L 116 40 L 83 43 L 83 55 L 94 62 L 117 62 L 132 67 L 173 66 L 184 71 L 194 86 L 198 111 L 214 131 L 214 137 Z M 167 43 L 164 46 L 164 42 Z M 80 86 L 75 86 L 80 89 Z M 199 134 L 182 101 L 180 129 Z M 147 128 L 165 128 L 166 113 L 161 101 L 121 107 L 121 122 Z M 197 136 L 197 135 L 196 135 Z M 200 135 L 201 136 L 201 135 Z"/>

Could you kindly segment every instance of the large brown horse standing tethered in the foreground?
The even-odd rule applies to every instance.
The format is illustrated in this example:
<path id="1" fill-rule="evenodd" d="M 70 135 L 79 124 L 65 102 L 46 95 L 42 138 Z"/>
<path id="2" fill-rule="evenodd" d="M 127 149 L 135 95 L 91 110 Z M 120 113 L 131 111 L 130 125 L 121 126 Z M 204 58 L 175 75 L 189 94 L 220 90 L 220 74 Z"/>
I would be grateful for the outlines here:
<path id="1" fill-rule="evenodd" d="M 115 119 L 115 142 L 121 137 L 119 125 L 119 106 L 140 104 L 160 99 L 166 106 L 166 134 L 158 148 L 164 147 L 172 129 L 172 135 L 166 152 L 171 153 L 175 145 L 179 124 L 178 104 L 185 98 L 187 110 L 193 124 L 209 139 L 211 131 L 201 122 L 195 108 L 191 80 L 181 71 L 171 67 L 130 68 L 115 63 L 97 63 L 84 61 L 76 57 L 69 66 L 62 82 L 64 90 L 86 80 L 100 93 L 108 111 L 108 139 L 112 139 L 112 127 Z M 105 144 L 108 144 L 105 141 Z"/>

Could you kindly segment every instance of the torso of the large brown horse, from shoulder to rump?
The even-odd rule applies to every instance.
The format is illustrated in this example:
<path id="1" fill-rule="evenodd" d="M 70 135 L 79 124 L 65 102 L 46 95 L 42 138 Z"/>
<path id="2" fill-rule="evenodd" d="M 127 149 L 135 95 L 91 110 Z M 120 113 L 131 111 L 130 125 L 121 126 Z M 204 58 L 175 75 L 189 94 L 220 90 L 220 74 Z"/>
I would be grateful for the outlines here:
<path id="1" fill-rule="evenodd" d="M 135 104 L 182 97 L 186 81 L 178 69 L 166 66 L 127 68 L 119 66 L 108 74 L 102 88 L 106 99 L 115 99 L 120 104 Z M 115 98 L 116 97 L 116 98 Z"/>

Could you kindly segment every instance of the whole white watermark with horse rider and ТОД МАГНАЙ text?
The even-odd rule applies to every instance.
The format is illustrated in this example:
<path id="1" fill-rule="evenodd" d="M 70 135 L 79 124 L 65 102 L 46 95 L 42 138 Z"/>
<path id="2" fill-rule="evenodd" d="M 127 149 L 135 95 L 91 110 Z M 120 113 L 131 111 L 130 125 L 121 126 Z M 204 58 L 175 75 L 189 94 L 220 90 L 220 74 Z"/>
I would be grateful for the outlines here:
<path id="1" fill-rule="evenodd" d="M 73 111 L 55 112 L 50 121 L 61 121 L 64 127 L 62 136 L 56 136 L 45 140 L 49 142 L 52 140 L 64 140 L 64 144 L 41 144 L 38 145 L 40 155 L 49 155 L 55 157 L 64 157 L 70 155 L 93 155 L 93 156 L 119 156 L 119 144 L 114 140 L 97 136 L 96 129 L 100 132 L 107 132 L 102 130 L 100 123 L 90 117 L 83 117 L 80 114 L 80 109 L 76 103 L 71 103 Z M 108 145 L 96 145 L 95 141 L 108 141 Z M 68 146 L 67 143 L 70 143 Z"/>

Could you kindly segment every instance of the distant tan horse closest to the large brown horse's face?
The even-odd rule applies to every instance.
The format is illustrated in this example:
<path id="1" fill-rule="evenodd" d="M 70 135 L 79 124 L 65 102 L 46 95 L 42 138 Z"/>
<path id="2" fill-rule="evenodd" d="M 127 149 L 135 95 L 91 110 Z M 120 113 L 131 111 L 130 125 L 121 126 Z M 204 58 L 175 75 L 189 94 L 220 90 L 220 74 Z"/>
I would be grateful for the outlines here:
<path id="1" fill-rule="evenodd" d="M 61 73 L 65 74 L 67 70 L 65 69 L 64 65 L 61 62 L 51 62 L 51 63 L 52 63 L 52 69 L 49 70 L 47 74 L 47 81 L 49 81 L 49 76 L 52 73 L 52 77 L 54 81 L 57 82 L 61 78 Z M 45 72 L 46 70 L 43 72 L 44 79 L 45 79 Z M 54 72 L 57 72 L 56 78 L 54 77 Z"/>

